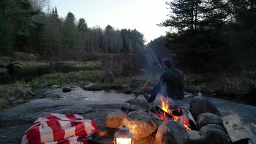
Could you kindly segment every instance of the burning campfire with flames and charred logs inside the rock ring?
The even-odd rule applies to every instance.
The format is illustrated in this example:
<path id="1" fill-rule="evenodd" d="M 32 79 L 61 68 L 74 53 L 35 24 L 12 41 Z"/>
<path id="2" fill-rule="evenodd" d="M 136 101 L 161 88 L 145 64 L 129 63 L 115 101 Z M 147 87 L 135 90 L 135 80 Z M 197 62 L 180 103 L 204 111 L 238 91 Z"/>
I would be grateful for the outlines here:
<path id="1" fill-rule="evenodd" d="M 187 130 L 191 130 L 189 128 L 189 119 L 187 118 L 187 116 L 183 115 L 179 107 L 177 107 L 176 110 L 171 110 L 169 106 L 168 97 L 166 98 L 166 100 L 164 100 L 164 98 L 161 96 L 160 100 L 161 100 L 161 107 L 158 107 L 160 109 L 158 109 L 158 112 L 156 113 L 156 115 L 160 119 L 164 120 L 165 122 L 169 120 L 178 121 L 179 123 L 184 125 L 184 127 Z"/>

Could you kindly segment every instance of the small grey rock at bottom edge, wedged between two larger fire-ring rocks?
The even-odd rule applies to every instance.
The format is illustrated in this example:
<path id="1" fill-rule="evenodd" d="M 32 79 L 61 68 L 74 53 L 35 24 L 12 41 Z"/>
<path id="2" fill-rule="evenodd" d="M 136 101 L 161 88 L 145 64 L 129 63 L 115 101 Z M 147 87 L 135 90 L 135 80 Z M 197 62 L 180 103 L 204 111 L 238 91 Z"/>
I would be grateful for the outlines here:
<path id="1" fill-rule="evenodd" d="M 189 144 L 205 144 L 205 136 L 199 131 L 189 130 L 188 131 Z"/>

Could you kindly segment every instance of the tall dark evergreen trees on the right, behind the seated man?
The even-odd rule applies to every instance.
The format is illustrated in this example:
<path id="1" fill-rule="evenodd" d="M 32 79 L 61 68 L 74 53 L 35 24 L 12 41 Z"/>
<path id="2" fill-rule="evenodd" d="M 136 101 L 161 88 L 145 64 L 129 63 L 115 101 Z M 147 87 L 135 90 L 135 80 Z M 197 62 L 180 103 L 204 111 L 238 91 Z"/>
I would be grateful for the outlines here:
<path id="1" fill-rule="evenodd" d="M 256 68 L 255 0 L 173 0 L 166 37 L 149 43 L 152 49 L 175 51 L 179 65 L 211 73 Z M 200 72 L 200 73 L 201 73 Z"/>

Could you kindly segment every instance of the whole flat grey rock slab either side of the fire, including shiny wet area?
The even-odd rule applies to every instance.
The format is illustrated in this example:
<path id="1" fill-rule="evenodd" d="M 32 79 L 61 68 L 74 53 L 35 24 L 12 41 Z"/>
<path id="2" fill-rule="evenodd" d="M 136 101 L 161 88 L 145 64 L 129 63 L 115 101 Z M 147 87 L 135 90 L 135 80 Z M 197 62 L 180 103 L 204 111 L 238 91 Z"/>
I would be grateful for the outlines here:
<path id="1" fill-rule="evenodd" d="M 125 101 L 134 98 L 133 95 L 113 94 L 100 92 L 86 92 L 81 88 L 73 89 L 69 93 L 63 93 L 62 88 L 46 89 L 45 93 L 62 95 L 62 100 L 37 99 L 30 103 L 16 106 L 12 109 L 0 112 L 0 141 L 1 143 L 19 143 L 27 128 L 36 121 L 39 116 L 48 113 L 78 113 L 86 119 L 92 119 L 101 130 L 104 129 L 104 118 L 108 113 L 120 110 Z M 179 106 L 189 106 L 194 97 L 186 97 L 184 100 L 175 101 Z M 84 100 L 82 100 L 84 99 Z M 233 101 L 217 98 L 211 100 L 222 115 L 226 113 L 238 113 L 242 124 L 256 124 L 256 107 L 238 104 Z"/>

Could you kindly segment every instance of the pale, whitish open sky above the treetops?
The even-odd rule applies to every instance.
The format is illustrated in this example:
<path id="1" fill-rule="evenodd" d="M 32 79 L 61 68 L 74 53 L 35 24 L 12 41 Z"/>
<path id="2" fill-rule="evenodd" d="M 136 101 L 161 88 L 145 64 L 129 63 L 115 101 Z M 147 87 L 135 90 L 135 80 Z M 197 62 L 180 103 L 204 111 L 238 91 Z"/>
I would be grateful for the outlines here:
<path id="1" fill-rule="evenodd" d="M 167 19 L 165 0 L 51 0 L 60 16 L 71 11 L 77 20 L 82 17 L 89 27 L 137 29 L 143 33 L 147 43 L 165 35 L 166 27 L 156 24 Z"/>

